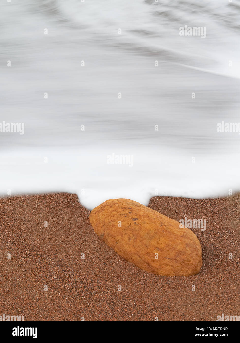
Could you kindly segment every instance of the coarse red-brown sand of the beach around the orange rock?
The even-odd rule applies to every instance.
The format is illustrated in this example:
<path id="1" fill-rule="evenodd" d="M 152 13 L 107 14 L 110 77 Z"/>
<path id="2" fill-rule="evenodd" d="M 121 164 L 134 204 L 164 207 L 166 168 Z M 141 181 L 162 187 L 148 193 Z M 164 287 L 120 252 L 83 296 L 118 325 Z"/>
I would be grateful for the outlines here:
<path id="1" fill-rule="evenodd" d="M 202 245 L 200 273 L 167 277 L 138 269 L 102 242 L 76 194 L 0 199 L 0 315 L 24 315 L 25 320 L 216 320 L 222 313 L 240 315 L 239 205 L 240 194 L 152 198 L 150 208 L 176 221 L 206 219 L 205 231 L 192 229 Z"/>

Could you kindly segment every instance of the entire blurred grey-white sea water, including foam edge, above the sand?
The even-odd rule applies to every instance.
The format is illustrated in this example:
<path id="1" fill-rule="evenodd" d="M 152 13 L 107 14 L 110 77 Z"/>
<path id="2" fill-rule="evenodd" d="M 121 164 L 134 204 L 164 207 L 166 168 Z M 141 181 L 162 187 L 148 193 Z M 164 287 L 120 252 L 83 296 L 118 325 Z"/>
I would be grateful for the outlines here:
<path id="1" fill-rule="evenodd" d="M 240 135 L 216 130 L 240 122 L 240 1 L 12 0 L 0 25 L 0 123 L 24 123 L 0 132 L 1 196 L 240 190 Z"/>

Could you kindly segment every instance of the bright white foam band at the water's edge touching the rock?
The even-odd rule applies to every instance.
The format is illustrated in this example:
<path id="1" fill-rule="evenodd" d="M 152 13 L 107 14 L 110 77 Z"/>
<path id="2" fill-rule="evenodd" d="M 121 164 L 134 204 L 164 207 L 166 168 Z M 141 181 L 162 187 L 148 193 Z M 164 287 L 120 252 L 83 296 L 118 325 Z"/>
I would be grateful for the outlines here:
<path id="1" fill-rule="evenodd" d="M 124 147 L 116 154 L 132 155 L 133 166 L 107 164 L 111 147 L 92 149 L 30 149 L 1 154 L 1 194 L 77 193 L 93 209 L 107 199 L 128 198 L 145 205 L 151 197 L 205 198 L 228 196 L 240 189 L 239 152 L 231 155 L 161 151 L 156 147 Z M 48 159 L 46 160 L 46 157 Z M 47 163 L 46 163 L 47 161 Z"/>

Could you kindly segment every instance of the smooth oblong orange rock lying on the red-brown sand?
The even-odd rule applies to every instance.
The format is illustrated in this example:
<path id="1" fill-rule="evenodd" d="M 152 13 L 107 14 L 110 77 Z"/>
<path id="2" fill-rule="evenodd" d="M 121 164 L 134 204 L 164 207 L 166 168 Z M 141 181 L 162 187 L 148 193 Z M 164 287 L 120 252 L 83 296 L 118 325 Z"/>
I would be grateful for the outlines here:
<path id="1" fill-rule="evenodd" d="M 201 269 L 202 249 L 195 234 L 136 201 L 107 200 L 92 210 L 90 223 L 108 246 L 147 272 L 189 276 Z"/>

